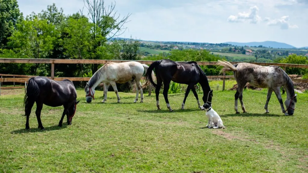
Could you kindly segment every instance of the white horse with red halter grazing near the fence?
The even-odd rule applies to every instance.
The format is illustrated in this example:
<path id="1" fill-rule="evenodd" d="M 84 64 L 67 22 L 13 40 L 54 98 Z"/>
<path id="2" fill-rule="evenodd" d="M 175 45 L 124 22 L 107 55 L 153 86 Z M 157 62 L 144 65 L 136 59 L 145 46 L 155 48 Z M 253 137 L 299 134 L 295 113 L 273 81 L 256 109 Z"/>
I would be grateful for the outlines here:
<path id="1" fill-rule="evenodd" d="M 102 102 L 104 103 L 107 100 L 108 87 L 109 85 L 111 85 L 113 87 L 113 90 L 115 91 L 115 94 L 117 95 L 118 103 L 120 103 L 120 96 L 118 94 L 118 89 L 115 83 L 125 83 L 133 80 L 136 82 L 137 92 L 134 103 L 138 101 L 139 91 L 141 94 L 140 102 L 143 102 L 143 90 L 140 80 L 142 78 L 142 75 L 147 71 L 147 69 L 147 65 L 141 64 L 140 62 L 136 61 L 121 63 L 107 62 L 93 74 L 93 76 L 90 78 L 84 88 L 87 103 L 90 103 L 92 99 L 94 99 L 95 88 L 101 82 L 104 83 L 104 99 Z M 155 78 L 154 72 L 152 72 L 152 78 Z"/>

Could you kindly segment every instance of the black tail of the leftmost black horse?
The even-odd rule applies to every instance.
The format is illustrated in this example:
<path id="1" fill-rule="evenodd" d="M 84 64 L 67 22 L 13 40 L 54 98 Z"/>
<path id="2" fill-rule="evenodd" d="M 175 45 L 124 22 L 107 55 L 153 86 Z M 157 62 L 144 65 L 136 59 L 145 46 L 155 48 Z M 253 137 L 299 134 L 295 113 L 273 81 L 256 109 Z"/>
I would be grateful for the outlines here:
<path id="1" fill-rule="evenodd" d="M 23 99 L 23 106 L 26 108 L 26 110 L 28 109 L 29 102 L 34 102 L 35 99 L 39 96 L 39 92 L 39 86 L 35 82 L 34 77 L 30 78 L 28 80 L 27 92 Z"/>

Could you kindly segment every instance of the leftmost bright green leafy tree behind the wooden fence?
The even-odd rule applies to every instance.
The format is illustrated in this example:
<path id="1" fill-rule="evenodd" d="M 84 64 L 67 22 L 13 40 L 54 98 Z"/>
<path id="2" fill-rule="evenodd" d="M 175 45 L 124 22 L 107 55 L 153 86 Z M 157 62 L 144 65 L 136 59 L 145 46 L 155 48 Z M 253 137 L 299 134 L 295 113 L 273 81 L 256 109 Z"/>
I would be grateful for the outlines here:
<path id="1" fill-rule="evenodd" d="M 24 20 L 17 24 L 11 37 L 9 46 L 15 52 L 27 55 L 29 58 L 47 58 L 53 50 L 54 43 L 58 37 L 53 24 L 48 24 L 47 20 Z M 37 74 L 39 64 L 35 65 L 34 74 Z M 41 71 L 40 75 L 47 75 L 46 71 Z"/>

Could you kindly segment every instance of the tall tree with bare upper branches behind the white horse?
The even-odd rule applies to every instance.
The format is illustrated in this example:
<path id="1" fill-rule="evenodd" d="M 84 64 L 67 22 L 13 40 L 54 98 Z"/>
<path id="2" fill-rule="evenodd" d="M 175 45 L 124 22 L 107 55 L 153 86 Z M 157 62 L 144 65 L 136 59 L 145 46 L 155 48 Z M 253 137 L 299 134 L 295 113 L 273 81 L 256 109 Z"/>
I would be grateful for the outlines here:
<path id="1" fill-rule="evenodd" d="M 91 51 L 91 59 L 99 59 L 99 50 L 102 50 L 100 46 L 103 46 L 105 42 L 123 34 L 126 30 L 124 24 L 127 23 L 130 14 L 120 18 L 120 14 L 117 15 L 115 10 L 115 4 L 111 3 L 110 6 L 105 6 L 104 0 L 84 0 L 85 7 L 88 10 L 87 17 L 90 18 L 92 23 L 92 42 L 89 46 Z M 97 71 L 98 64 L 92 64 L 92 73 Z"/>

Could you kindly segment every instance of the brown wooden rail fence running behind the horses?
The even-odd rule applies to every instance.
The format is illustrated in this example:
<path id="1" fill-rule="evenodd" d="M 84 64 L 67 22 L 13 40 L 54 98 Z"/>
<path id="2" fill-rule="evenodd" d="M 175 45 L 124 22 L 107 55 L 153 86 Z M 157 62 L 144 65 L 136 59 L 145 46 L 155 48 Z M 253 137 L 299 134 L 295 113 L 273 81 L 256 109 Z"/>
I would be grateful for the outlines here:
<path id="1" fill-rule="evenodd" d="M 51 79 L 61 81 L 63 79 L 69 79 L 71 81 L 88 81 L 90 80 L 89 77 L 54 77 L 55 74 L 55 64 L 106 64 L 107 62 L 128 62 L 130 60 L 93 60 L 93 59 L 26 59 L 26 58 L 0 58 L 0 63 L 41 63 L 41 64 L 51 64 Z M 150 65 L 154 61 L 136 61 L 140 62 L 142 64 Z M 181 62 L 181 61 L 179 61 Z M 217 62 L 197 62 L 198 65 L 215 65 Z M 232 64 L 240 63 L 240 62 L 230 62 Z M 292 68 L 308 68 L 308 65 L 305 64 L 284 64 L 284 63 L 268 63 L 268 62 L 249 62 L 252 64 L 257 64 L 260 66 L 270 66 L 270 65 L 276 65 L 279 67 L 283 67 L 283 69 L 286 71 L 286 67 L 292 67 Z M 0 82 L 27 82 L 30 77 L 29 75 L 15 75 L 15 74 L 0 74 L 1 79 Z M 2 76 L 10 76 L 13 78 L 2 78 Z M 15 78 L 19 77 L 19 78 Z M 220 76 L 207 76 L 209 79 L 214 78 L 220 78 L 223 79 L 223 88 L 222 90 L 225 90 L 225 79 L 226 78 L 234 78 L 233 75 L 223 75 Z M 308 82 L 308 79 L 294 79 L 292 78 L 294 82 Z M 26 83 L 25 83 L 26 85 Z M 1 85 L 0 85 L 1 86 Z M 4 87 L 2 87 L 4 89 Z M 8 88 L 7 88 L 8 89 Z M 150 95 L 150 92 L 149 92 Z"/>

